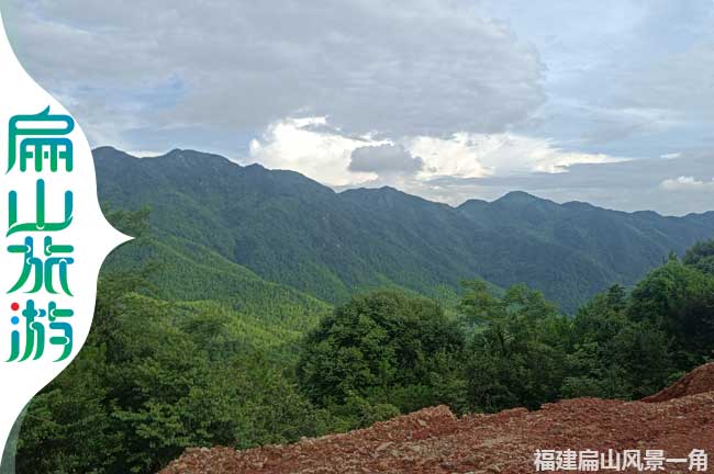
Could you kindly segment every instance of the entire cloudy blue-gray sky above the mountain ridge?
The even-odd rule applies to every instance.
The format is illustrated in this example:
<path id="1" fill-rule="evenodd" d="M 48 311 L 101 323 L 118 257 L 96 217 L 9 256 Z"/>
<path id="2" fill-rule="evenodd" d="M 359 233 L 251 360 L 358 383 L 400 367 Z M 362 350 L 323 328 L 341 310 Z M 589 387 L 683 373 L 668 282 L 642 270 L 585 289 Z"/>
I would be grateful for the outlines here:
<path id="1" fill-rule="evenodd" d="M 712 0 L 5 0 L 92 146 L 459 204 L 714 210 Z"/>

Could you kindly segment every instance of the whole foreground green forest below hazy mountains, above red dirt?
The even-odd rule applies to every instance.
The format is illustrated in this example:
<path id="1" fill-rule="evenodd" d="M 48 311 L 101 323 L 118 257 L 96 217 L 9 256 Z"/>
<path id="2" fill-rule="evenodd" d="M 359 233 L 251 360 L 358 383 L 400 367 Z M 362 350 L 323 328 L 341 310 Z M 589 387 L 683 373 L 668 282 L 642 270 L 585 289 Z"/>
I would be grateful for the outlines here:
<path id="1" fill-rule="evenodd" d="M 154 239 L 145 211 L 110 216 L 141 235 L 130 246 Z M 302 327 L 304 306 L 293 318 L 299 305 L 168 298 L 160 262 L 110 263 L 87 345 L 29 406 L 18 470 L 150 473 L 187 447 L 290 442 L 437 404 L 639 398 L 712 357 L 713 249 L 672 256 L 574 316 L 524 285 L 470 280 L 451 304 L 394 289 L 333 311 L 305 300 Z"/>

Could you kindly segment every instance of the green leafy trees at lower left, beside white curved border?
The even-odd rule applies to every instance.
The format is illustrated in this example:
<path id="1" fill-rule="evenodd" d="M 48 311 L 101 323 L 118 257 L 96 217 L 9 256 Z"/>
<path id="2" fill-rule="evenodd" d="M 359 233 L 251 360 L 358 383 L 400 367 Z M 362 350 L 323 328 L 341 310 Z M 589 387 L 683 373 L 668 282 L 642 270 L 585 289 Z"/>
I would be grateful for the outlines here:
<path id="1" fill-rule="evenodd" d="M 77 360 L 34 398 L 19 472 L 155 472 L 187 447 L 319 432 L 320 414 L 285 369 L 233 351 L 210 314 L 177 320 L 171 304 L 131 294 L 111 305 L 121 313 L 98 320 Z"/>

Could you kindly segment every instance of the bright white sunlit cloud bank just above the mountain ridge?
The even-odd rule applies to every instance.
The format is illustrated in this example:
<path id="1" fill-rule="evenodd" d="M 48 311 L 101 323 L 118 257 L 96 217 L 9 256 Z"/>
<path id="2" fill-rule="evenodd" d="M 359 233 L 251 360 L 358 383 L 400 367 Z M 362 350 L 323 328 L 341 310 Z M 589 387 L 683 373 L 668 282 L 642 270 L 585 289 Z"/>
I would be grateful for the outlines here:
<path id="1" fill-rule="evenodd" d="M 510 133 L 416 136 L 400 143 L 347 136 L 325 117 L 286 119 L 250 144 L 249 162 L 299 171 L 336 188 L 392 185 L 434 199 L 438 178 L 473 179 L 565 173 L 582 163 L 623 161 L 606 155 L 565 151 L 550 140 Z M 444 198 L 442 189 L 436 196 Z M 458 198 L 460 199 L 459 194 Z"/>

